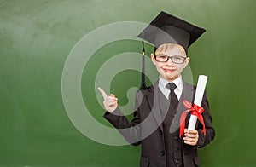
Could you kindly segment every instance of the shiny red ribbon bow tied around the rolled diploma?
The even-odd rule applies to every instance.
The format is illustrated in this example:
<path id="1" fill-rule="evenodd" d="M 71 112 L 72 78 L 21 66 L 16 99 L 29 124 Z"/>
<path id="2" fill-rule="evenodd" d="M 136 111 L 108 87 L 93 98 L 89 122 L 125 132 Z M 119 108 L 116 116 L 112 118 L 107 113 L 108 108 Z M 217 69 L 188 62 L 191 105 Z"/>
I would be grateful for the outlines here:
<path id="1" fill-rule="evenodd" d="M 192 104 L 189 101 L 183 100 L 183 105 L 184 107 L 186 107 L 188 110 L 185 110 L 180 118 L 180 129 L 179 129 L 179 136 L 181 137 L 183 135 L 184 129 L 185 129 L 185 120 L 187 117 L 188 112 L 191 112 L 192 115 L 195 115 L 198 120 L 201 122 L 201 124 L 203 125 L 203 130 L 201 131 L 204 135 L 206 135 L 207 130 L 206 130 L 206 126 L 204 123 L 204 118 L 202 117 L 201 113 L 204 112 L 204 108 L 197 106 L 195 104 Z"/>

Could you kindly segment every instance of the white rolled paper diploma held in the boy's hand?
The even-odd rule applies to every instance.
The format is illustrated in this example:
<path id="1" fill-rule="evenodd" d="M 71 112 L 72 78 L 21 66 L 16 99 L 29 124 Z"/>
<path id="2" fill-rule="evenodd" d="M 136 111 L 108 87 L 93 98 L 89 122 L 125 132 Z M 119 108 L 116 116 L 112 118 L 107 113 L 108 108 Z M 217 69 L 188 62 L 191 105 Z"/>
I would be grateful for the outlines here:
<path id="1" fill-rule="evenodd" d="M 205 75 L 200 75 L 198 78 L 198 82 L 196 85 L 196 90 L 195 90 L 195 100 L 194 100 L 194 104 L 196 106 L 201 107 L 201 101 L 206 89 L 206 85 L 207 85 L 207 76 Z M 195 124 L 197 121 L 197 117 L 195 115 L 190 115 L 189 118 L 189 126 L 188 126 L 188 130 L 195 130 Z"/>

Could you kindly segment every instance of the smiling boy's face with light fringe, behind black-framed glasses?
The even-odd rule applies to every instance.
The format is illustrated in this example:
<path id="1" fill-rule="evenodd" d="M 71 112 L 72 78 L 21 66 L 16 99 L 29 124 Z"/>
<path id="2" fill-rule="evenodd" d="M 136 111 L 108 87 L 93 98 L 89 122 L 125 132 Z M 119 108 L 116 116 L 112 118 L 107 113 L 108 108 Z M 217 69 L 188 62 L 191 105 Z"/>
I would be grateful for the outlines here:
<path id="1" fill-rule="evenodd" d="M 168 82 L 172 82 L 174 79 L 178 78 L 185 68 L 189 64 L 189 57 L 186 56 L 186 52 L 183 47 L 179 44 L 165 43 L 160 45 L 155 51 L 155 55 L 168 55 L 168 56 L 181 56 L 185 58 L 182 64 L 173 63 L 169 58 L 167 62 L 158 62 L 154 58 L 154 54 L 151 54 L 151 60 L 156 66 L 157 71 L 161 78 L 166 79 Z"/>

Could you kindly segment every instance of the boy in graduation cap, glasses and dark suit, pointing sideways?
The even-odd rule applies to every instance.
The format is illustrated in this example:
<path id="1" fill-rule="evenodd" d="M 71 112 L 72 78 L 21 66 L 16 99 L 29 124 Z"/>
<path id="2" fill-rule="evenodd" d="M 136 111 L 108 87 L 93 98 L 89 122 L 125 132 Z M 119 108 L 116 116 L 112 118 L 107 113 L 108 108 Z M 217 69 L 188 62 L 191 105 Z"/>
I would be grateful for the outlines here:
<path id="1" fill-rule="evenodd" d="M 134 118 L 130 122 L 119 110 L 115 95 L 106 95 L 104 118 L 116 127 L 132 145 L 142 144 L 140 166 L 199 166 L 197 148 L 213 140 L 215 130 L 206 94 L 201 107 L 207 134 L 202 125 L 185 130 L 179 137 L 179 119 L 185 110 L 183 100 L 193 102 L 195 87 L 183 81 L 181 72 L 189 63 L 189 46 L 205 32 L 171 14 L 160 14 L 138 36 L 155 46 L 151 60 L 160 74 L 159 80 L 136 95 Z M 188 114 L 186 124 L 189 121 Z"/>

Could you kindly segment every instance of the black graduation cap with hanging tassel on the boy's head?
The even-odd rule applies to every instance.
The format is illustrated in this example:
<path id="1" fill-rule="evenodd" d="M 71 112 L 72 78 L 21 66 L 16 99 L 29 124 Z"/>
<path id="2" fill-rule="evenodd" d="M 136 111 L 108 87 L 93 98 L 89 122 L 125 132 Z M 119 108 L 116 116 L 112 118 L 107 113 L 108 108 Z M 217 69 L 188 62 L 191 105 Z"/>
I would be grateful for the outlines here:
<path id="1" fill-rule="evenodd" d="M 201 36 L 205 29 L 194 26 L 185 20 L 181 20 L 171 14 L 161 11 L 154 20 L 137 37 L 152 43 L 158 48 L 164 43 L 177 43 L 183 46 L 188 53 L 189 46 Z M 143 70 L 141 89 L 146 88 L 145 84 L 145 62 L 144 62 L 144 42 L 143 43 Z"/>

